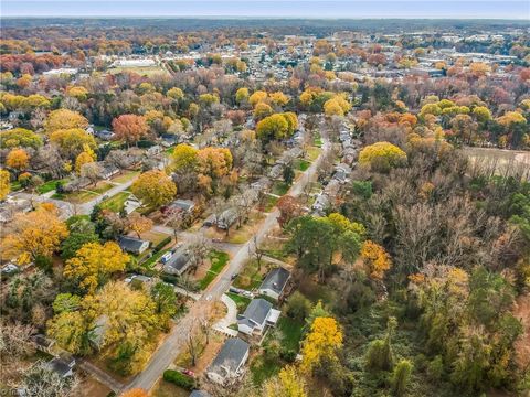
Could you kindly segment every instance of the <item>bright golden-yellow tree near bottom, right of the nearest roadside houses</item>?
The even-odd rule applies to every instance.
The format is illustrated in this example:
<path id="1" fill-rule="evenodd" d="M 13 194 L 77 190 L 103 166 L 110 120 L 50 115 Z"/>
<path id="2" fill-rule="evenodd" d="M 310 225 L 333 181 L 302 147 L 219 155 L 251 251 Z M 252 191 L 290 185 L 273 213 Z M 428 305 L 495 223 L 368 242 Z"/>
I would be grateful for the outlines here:
<path id="1" fill-rule="evenodd" d="M 342 332 L 332 318 L 316 318 L 304 340 L 301 368 L 312 372 L 325 361 L 336 361 L 337 350 L 342 347 Z"/>

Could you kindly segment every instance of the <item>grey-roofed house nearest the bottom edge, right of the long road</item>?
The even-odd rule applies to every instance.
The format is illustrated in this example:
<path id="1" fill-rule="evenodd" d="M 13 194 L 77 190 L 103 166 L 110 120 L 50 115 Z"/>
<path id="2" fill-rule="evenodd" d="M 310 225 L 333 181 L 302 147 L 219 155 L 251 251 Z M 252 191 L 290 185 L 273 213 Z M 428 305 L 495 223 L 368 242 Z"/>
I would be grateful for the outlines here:
<path id="1" fill-rule="evenodd" d="M 212 364 L 206 369 L 210 380 L 218 384 L 229 384 L 242 375 L 243 365 L 248 360 L 250 345 L 239 337 L 224 342 Z"/>

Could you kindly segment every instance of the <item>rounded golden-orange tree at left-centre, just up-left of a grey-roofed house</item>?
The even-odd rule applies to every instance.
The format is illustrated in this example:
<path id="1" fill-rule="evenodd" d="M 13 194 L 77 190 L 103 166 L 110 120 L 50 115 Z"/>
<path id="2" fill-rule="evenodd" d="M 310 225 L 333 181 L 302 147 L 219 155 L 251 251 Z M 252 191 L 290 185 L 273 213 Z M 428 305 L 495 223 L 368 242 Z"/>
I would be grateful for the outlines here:
<path id="1" fill-rule="evenodd" d="M 141 202 L 151 208 L 158 208 L 171 202 L 177 195 L 177 186 L 162 171 L 152 170 L 142 173 L 132 183 L 130 190 Z"/>

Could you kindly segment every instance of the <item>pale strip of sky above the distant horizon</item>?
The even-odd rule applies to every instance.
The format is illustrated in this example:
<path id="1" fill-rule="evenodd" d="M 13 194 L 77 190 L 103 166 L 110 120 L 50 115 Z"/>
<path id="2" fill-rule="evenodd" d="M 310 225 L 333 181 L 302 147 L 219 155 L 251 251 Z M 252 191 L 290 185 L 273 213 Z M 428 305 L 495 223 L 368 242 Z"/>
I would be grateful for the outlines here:
<path id="1" fill-rule="evenodd" d="M 0 0 L 0 15 L 530 21 L 530 0 Z"/>

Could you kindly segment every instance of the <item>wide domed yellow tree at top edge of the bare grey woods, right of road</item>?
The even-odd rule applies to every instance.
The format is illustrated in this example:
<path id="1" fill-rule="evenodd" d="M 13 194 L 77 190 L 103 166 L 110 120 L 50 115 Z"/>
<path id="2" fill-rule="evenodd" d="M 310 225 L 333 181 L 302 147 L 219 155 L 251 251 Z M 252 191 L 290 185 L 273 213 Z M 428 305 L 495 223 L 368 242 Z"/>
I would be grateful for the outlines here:
<path id="1" fill-rule="evenodd" d="M 364 147 L 359 153 L 359 163 L 373 171 L 389 172 L 406 161 L 406 153 L 390 142 L 377 142 Z"/>

